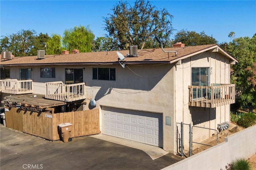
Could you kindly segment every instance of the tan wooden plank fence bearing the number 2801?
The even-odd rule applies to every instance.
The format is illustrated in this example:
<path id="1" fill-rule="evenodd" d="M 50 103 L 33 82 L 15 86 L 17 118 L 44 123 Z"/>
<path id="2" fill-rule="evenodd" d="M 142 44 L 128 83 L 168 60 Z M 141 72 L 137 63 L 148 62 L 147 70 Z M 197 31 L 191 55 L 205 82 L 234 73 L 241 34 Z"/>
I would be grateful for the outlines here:
<path id="1" fill-rule="evenodd" d="M 58 125 L 72 123 L 71 137 L 98 134 L 99 109 L 65 113 L 35 112 L 5 107 L 6 127 L 46 138 L 60 140 Z M 9 111 L 8 111 L 9 110 Z"/>

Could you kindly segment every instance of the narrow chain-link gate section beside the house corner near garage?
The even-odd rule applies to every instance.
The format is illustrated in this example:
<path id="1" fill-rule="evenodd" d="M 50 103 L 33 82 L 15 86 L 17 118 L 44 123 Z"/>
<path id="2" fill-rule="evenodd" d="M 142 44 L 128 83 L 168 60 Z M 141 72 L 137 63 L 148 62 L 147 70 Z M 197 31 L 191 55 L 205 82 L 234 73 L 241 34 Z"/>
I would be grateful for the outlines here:
<path id="1" fill-rule="evenodd" d="M 191 156 L 191 124 L 176 123 L 177 153 L 180 156 Z"/>

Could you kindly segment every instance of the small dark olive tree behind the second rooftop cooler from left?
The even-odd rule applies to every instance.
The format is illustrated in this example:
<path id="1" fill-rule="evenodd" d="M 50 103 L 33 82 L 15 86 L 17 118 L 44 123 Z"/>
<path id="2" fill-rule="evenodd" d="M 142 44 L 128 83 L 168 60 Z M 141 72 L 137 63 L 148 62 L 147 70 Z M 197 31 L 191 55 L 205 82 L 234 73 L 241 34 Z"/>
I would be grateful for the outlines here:
<path id="1" fill-rule="evenodd" d="M 50 37 L 48 34 L 42 34 L 40 33 L 38 36 L 34 38 L 33 48 L 31 49 L 32 55 L 37 55 L 37 50 L 42 49 L 46 50 L 46 42 L 48 41 Z"/>

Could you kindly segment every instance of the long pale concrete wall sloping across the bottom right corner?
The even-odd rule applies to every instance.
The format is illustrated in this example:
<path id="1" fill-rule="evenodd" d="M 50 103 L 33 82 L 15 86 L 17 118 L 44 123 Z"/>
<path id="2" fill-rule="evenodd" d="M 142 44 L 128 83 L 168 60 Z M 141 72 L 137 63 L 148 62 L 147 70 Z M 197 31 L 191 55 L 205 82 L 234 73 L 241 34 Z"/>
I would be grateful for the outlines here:
<path id="1" fill-rule="evenodd" d="M 225 138 L 221 144 L 172 164 L 163 170 L 220 170 L 237 158 L 256 153 L 256 125 Z"/>

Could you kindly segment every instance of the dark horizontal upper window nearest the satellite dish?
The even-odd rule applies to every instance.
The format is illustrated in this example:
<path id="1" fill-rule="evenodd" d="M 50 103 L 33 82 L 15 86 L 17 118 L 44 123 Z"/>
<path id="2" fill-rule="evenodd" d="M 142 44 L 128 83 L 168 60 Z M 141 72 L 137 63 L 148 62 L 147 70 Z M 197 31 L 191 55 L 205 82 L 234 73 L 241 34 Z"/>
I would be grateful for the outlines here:
<path id="1" fill-rule="evenodd" d="M 115 68 L 92 68 L 92 79 L 116 80 Z"/>

